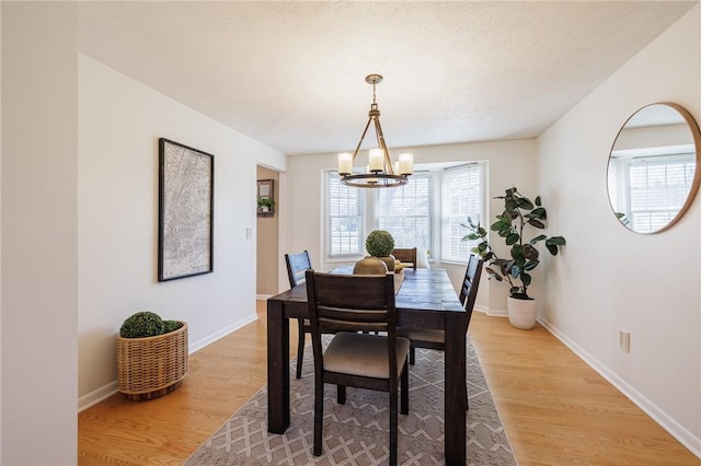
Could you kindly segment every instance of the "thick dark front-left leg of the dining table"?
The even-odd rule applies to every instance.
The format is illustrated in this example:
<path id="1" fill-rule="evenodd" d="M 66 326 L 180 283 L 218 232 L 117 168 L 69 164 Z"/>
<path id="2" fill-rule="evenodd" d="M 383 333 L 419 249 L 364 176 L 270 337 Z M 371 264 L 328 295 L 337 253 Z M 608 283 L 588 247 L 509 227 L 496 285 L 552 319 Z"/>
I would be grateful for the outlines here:
<path id="1" fill-rule="evenodd" d="M 267 300 L 267 431 L 289 427 L 289 321 L 283 302 Z"/>

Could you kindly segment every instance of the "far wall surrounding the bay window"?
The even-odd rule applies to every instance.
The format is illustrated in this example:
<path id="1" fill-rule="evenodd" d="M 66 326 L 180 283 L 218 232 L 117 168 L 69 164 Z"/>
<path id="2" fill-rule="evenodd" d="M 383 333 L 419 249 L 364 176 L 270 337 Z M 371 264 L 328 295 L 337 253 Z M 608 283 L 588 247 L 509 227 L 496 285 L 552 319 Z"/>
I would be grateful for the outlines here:
<path id="1" fill-rule="evenodd" d="M 533 190 L 538 186 L 536 149 L 536 140 L 514 140 L 421 148 L 391 148 L 390 153 L 395 156 L 400 152 L 412 152 L 416 164 L 489 161 L 487 191 L 491 199 L 491 213 L 489 213 L 487 219 L 492 220 L 495 214 L 501 213 L 504 209 L 503 202 L 493 198 L 494 196 L 503 195 L 506 188 L 516 186 L 525 194 L 535 194 Z M 320 270 L 330 270 L 338 266 L 338 264 L 327 263 L 323 257 L 322 173 L 324 170 L 336 167 L 336 154 L 295 155 L 288 159 L 287 164 L 289 189 L 285 196 L 288 200 L 289 218 L 294 219 L 294 221 L 289 221 L 284 226 L 288 234 L 287 249 L 285 252 L 308 249 L 313 267 Z M 437 264 L 437 267 L 448 270 L 456 289 L 459 289 L 459 283 L 464 276 L 464 265 Z M 286 281 L 281 283 L 280 289 L 287 288 L 288 283 Z M 535 290 L 537 289 L 535 287 Z M 480 283 L 476 307 L 491 314 L 504 314 L 506 310 L 506 291 L 507 289 L 503 283 L 491 283 L 484 277 L 484 280 Z"/>

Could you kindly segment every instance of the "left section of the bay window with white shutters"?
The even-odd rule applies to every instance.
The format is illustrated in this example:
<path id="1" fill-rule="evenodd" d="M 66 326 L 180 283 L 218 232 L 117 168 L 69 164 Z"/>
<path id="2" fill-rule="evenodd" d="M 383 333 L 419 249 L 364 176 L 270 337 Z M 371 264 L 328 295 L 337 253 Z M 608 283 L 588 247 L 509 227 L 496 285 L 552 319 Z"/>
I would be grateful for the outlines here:
<path id="1" fill-rule="evenodd" d="M 336 172 L 327 173 L 326 183 L 329 256 L 364 254 L 363 189 L 342 185 Z"/>

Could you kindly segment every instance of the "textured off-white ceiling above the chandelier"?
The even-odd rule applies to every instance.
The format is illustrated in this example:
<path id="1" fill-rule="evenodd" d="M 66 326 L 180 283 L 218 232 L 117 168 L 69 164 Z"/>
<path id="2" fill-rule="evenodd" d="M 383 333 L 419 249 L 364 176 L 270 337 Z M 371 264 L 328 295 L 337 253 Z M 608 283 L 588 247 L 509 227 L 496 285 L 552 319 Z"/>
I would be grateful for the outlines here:
<path id="1" fill-rule="evenodd" d="M 82 2 L 80 49 L 287 154 L 536 137 L 696 1 Z"/>

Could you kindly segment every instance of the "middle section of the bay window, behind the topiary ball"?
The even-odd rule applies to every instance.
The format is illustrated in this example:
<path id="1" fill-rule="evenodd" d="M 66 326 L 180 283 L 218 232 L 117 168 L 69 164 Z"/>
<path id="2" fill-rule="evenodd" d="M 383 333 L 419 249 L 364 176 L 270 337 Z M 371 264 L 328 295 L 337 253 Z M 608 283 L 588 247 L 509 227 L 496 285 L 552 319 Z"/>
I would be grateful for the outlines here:
<path id="1" fill-rule="evenodd" d="M 400 188 L 376 191 L 375 228 L 390 232 L 395 247 L 430 248 L 430 174 L 417 172 Z"/>

